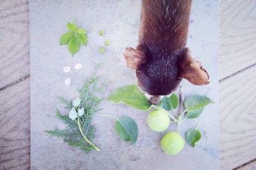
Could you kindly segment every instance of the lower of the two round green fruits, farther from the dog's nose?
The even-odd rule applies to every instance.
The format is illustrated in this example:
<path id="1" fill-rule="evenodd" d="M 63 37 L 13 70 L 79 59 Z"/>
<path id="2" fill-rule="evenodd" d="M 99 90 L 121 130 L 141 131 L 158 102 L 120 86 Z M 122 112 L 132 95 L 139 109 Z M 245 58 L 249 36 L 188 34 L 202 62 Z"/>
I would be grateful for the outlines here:
<path id="1" fill-rule="evenodd" d="M 168 132 L 161 139 L 161 148 L 168 155 L 177 155 L 184 147 L 184 139 L 177 132 Z"/>

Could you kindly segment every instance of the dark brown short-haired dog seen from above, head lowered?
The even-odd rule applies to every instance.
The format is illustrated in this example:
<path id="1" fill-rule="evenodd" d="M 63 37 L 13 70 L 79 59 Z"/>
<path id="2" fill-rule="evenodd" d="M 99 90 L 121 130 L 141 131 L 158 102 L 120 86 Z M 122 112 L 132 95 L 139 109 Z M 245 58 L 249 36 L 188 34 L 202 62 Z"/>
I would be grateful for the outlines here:
<path id="1" fill-rule="evenodd" d="M 207 72 L 186 48 L 190 10 L 191 0 L 142 0 L 139 45 L 127 48 L 125 60 L 150 95 L 172 93 L 182 78 L 195 85 L 208 82 Z"/>

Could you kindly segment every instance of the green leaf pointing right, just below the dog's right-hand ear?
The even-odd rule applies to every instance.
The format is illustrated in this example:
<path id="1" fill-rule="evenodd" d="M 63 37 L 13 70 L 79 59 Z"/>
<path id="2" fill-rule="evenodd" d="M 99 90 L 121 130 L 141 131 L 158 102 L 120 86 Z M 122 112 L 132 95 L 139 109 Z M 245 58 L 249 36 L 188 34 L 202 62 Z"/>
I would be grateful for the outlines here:
<path id="1" fill-rule="evenodd" d="M 214 103 L 210 98 L 205 96 L 193 95 L 185 99 L 185 108 L 188 112 L 197 111 L 207 104 Z"/>

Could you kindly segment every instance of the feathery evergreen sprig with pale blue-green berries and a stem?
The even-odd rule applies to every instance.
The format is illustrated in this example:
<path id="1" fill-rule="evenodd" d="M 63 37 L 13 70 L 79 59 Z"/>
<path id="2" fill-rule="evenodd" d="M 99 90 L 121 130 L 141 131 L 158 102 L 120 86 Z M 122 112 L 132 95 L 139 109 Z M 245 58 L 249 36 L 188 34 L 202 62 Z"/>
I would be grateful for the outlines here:
<path id="1" fill-rule="evenodd" d="M 88 153 L 95 149 L 92 141 L 95 133 L 95 126 L 92 124 L 92 116 L 97 111 L 97 106 L 101 99 L 96 96 L 102 90 L 103 85 L 98 85 L 99 76 L 93 76 L 84 81 L 83 87 L 78 90 L 79 97 L 73 101 L 68 101 L 59 97 L 61 103 L 65 104 L 68 114 L 62 115 L 56 110 L 56 117 L 65 125 L 65 129 L 53 129 L 45 131 L 52 136 L 63 139 L 68 145 L 80 148 Z"/>

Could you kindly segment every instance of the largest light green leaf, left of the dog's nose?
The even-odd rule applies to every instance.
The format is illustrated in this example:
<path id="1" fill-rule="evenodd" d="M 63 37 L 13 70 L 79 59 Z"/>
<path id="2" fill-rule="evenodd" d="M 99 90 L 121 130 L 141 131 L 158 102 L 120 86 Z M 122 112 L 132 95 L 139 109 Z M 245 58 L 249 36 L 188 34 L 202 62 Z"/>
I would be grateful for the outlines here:
<path id="1" fill-rule="evenodd" d="M 149 110 L 151 104 L 137 85 L 119 87 L 108 97 L 113 103 L 124 103 L 138 110 Z"/>

